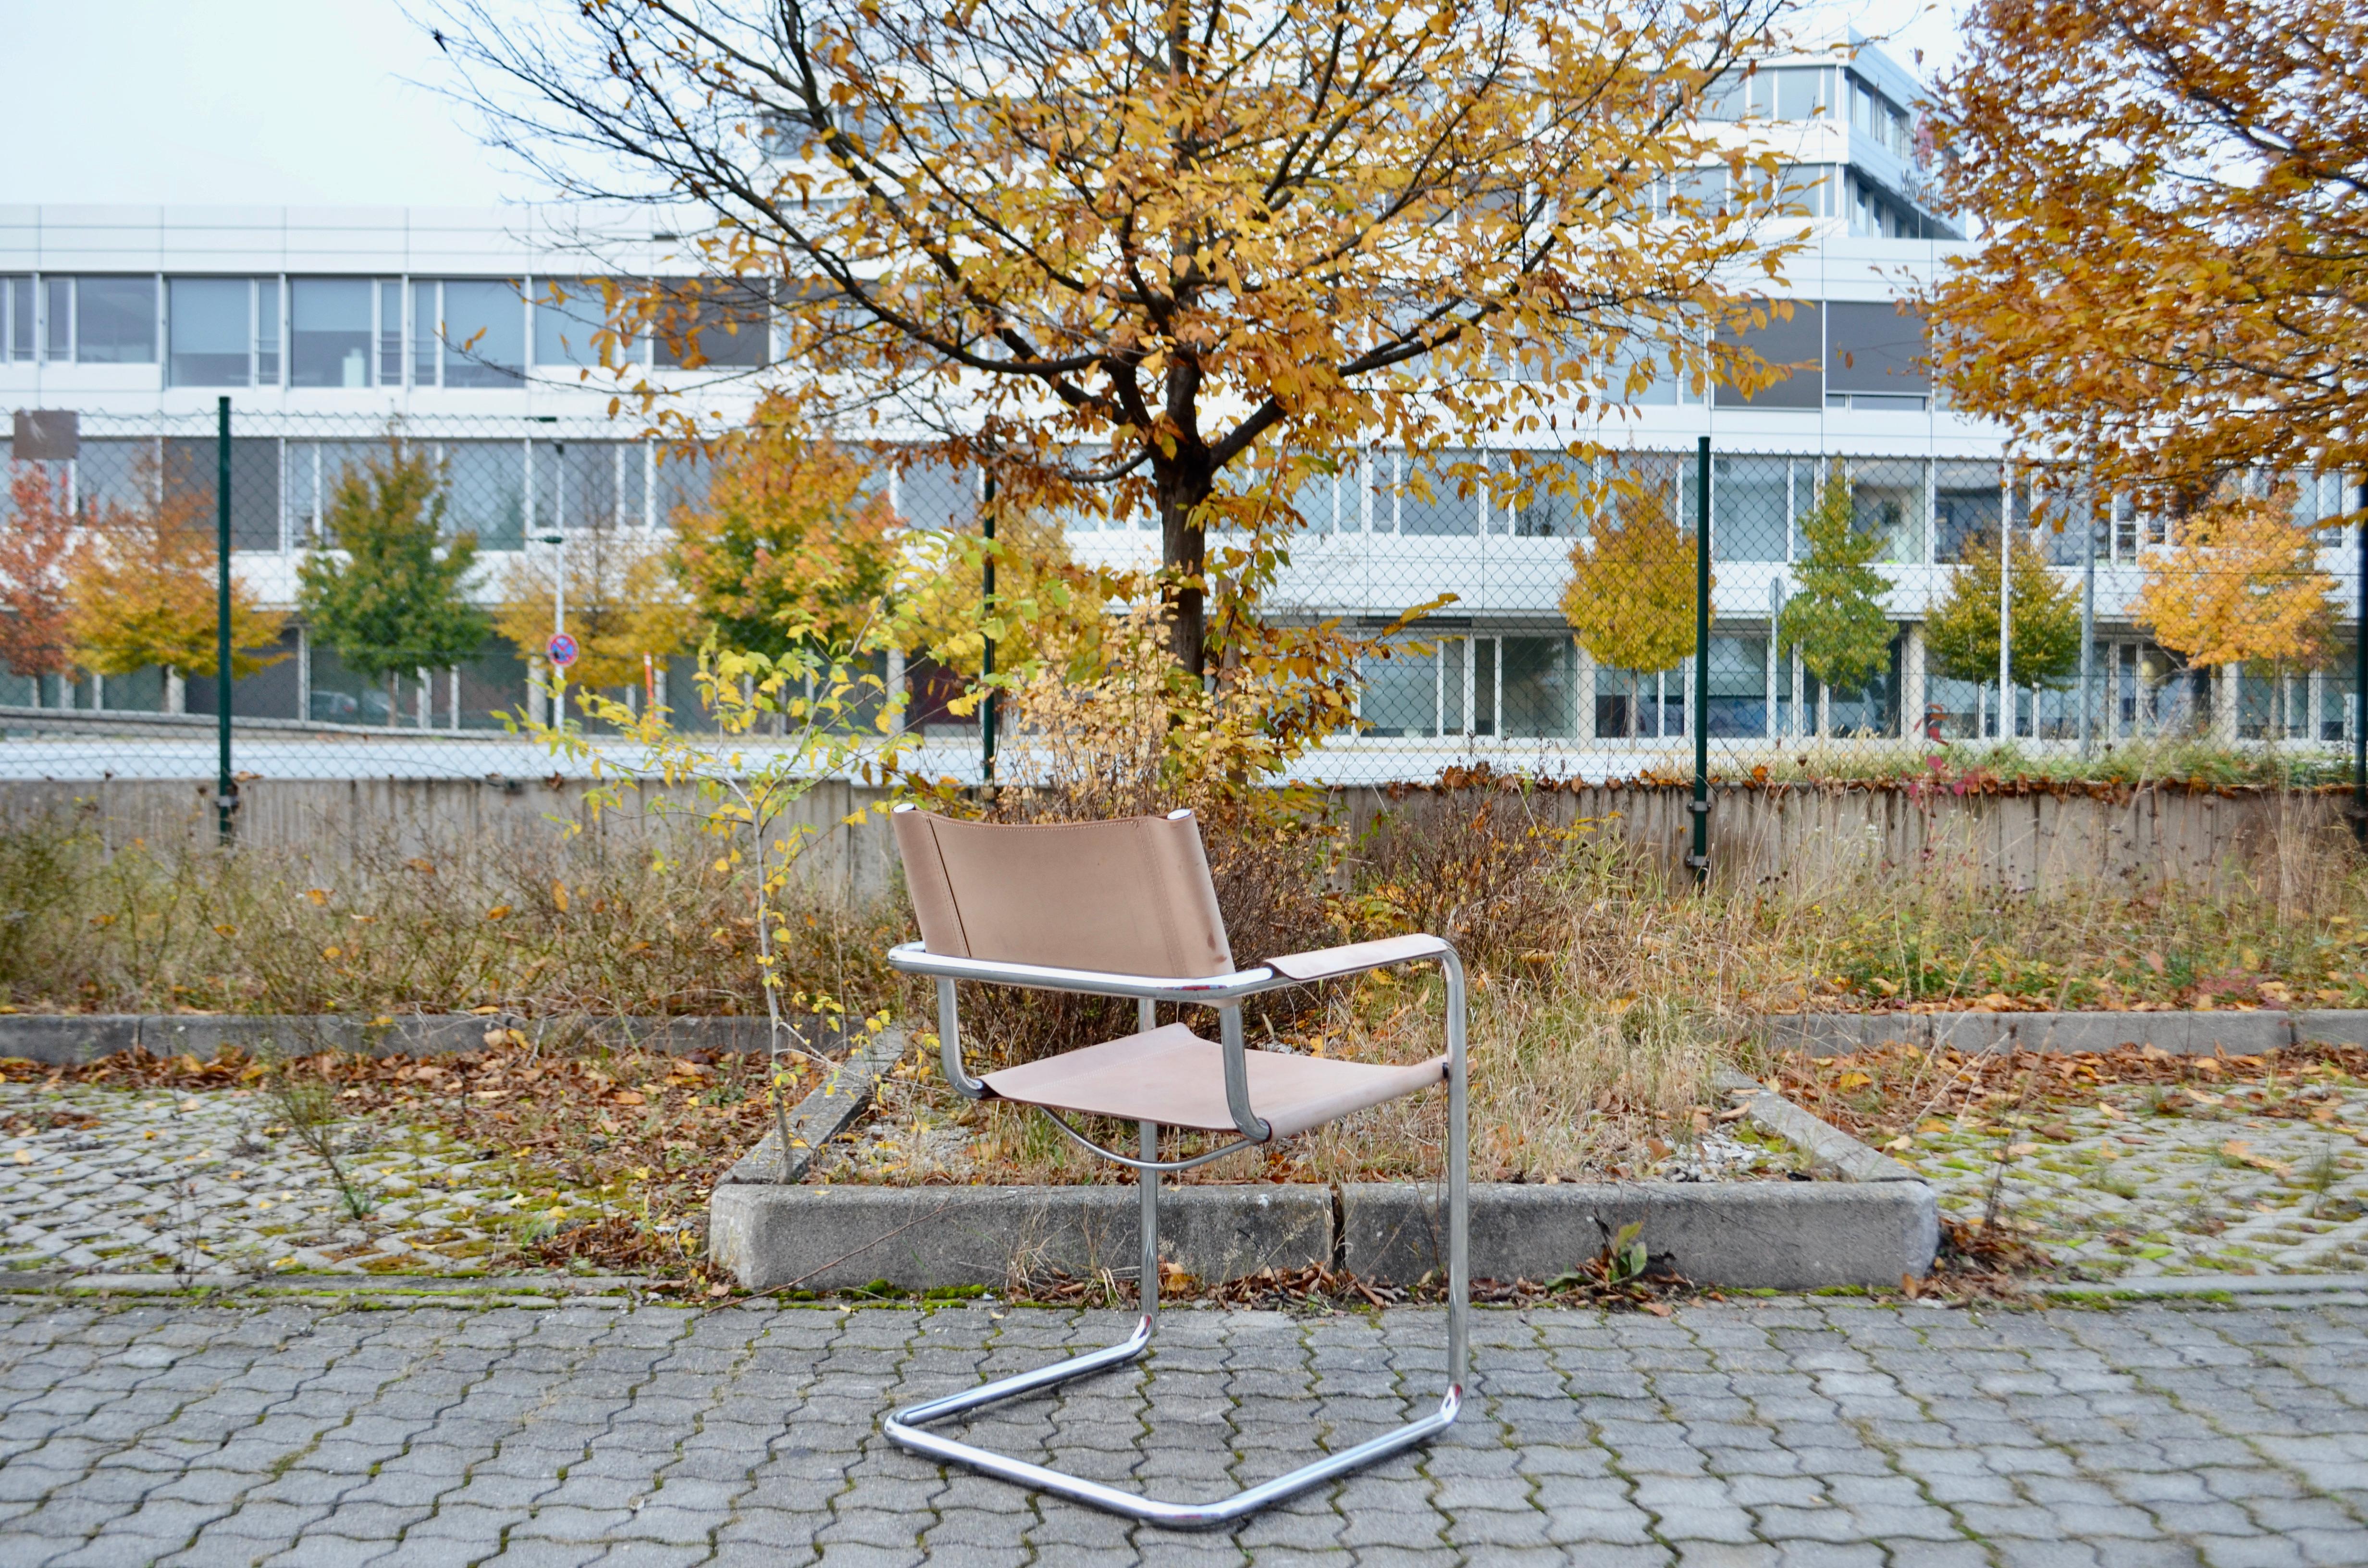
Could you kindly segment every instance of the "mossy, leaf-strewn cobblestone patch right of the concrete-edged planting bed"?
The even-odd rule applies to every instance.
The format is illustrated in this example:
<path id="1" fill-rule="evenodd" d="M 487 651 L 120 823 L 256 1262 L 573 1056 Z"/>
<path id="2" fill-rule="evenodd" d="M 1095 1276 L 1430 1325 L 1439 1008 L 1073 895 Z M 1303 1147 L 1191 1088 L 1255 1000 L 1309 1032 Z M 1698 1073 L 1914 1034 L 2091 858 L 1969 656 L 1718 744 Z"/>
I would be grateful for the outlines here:
<path id="1" fill-rule="evenodd" d="M 2368 1270 L 2368 1085 L 2105 1085 L 2093 1106 L 2006 1132 L 1928 1120 L 1894 1153 L 1954 1215 L 2001 1213 L 2098 1279 Z M 2297 1097 L 2295 1090 L 2302 1087 Z M 2309 1116 L 2261 1116 L 2304 1099 Z"/>

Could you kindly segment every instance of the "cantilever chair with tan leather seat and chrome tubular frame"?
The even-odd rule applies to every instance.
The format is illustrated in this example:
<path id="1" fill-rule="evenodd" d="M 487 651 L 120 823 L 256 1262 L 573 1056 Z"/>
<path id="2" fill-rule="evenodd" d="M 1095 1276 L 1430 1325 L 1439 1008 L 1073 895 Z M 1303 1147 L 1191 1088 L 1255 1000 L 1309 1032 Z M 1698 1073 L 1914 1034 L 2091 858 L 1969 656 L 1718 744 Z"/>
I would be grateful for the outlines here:
<path id="1" fill-rule="evenodd" d="M 1184 810 L 1120 822 L 1002 827 L 900 805 L 893 822 L 921 940 L 893 947 L 888 962 L 938 981 L 945 1080 L 971 1099 L 1037 1106 L 1080 1146 L 1139 1172 L 1144 1315 L 1134 1334 L 1106 1350 L 900 1409 L 888 1416 L 888 1438 L 916 1454 L 1189 1530 L 1231 1523 L 1444 1431 L 1463 1405 L 1471 1296 L 1463 964 L 1454 947 L 1435 936 L 1395 936 L 1236 969 L 1201 827 Z M 1437 959 L 1447 971 L 1444 1056 L 1421 1066 L 1369 1066 L 1243 1047 L 1243 997 L 1423 959 Z M 1137 1033 L 971 1078 L 961 1066 L 954 981 L 1134 997 Z M 1182 1023 L 1160 1026 L 1156 1002 L 1217 1009 L 1217 1042 L 1201 1040 Z M 926 1431 L 999 1400 L 1122 1367 L 1151 1345 L 1160 1312 L 1163 1170 L 1269 1149 L 1276 1139 L 1440 1082 L 1447 1085 L 1447 1397 L 1437 1412 L 1210 1504 L 1139 1497 Z M 1089 1142 L 1070 1125 L 1068 1113 L 1137 1123 L 1139 1156 Z M 1193 1158 L 1163 1161 L 1160 1127 L 1234 1132 L 1236 1139 Z"/>

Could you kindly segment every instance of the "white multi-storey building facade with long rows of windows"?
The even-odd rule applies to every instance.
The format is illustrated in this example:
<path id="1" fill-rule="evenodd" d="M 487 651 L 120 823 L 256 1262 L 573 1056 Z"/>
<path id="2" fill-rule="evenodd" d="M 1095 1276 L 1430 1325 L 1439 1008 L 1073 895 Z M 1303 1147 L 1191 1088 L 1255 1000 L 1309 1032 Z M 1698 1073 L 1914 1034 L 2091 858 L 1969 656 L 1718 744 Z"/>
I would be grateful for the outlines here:
<path id="1" fill-rule="evenodd" d="M 1407 460 L 1376 450 L 1362 471 L 1300 497 L 1310 531 L 1276 604 L 1347 621 L 1381 621 L 1440 592 L 1454 604 L 1402 658 L 1369 673 L 1366 734 L 1333 748 L 1333 772 L 1421 777 L 1442 758 L 1497 756 L 1617 775 L 1672 751 L 1695 722 L 1736 753 L 1819 730 L 1996 734 L 1996 687 L 1928 668 L 1920 623 L 1968 540 L 2001 526 L 2036 526 L 2070 580 L 2086 585 L 2093 573 L 2089 687 L 2013 694 L 2003 720 L 2013 734 L 2067 739 L 2086 703 L 2100 739 L 2202 725 L 2311 744 L 2349 737 L 2356 703 L 2340 675 L 2179 670 L 2129 618 L 2141 554 L 2162 542 L 2162 523 L 2096 497 L 2086 545 L 2079 526 L 2055 531 L 2051 521 L 2077 521 L 2089 502 L 2018 474 L 1996 429 L 1932 393 L 1920 322 L 1899 301 L 1968 242 L 1923 197 L 1913 102 L 1913 81 L 1873 47 L 1847 64 L 1776 62 L 1722 95 L 1717 114 L 1748 116 L 1752 135 L 1783 149 L 1785 185 L 1814 225 L 1781 287 L 1790 317 L 1750 339 L 1795 369 L 1750 398 L 1724 386 L 1703 398 L 1658 377 L 1598 424 L 1622 452 L 1615 462 L 1662 488 L 1686 521 L 1698 507 L 1695 441 L 1712 443 L 1707 689 L 1693 689 L 1691 661 L 1606 670 L 1572 644 L 1561 599 L 1587 531 L 1572 500 L 1499 507 L 1447 483 L 1409 483 Z M 1688 194 L 1719 199 L 1722 182 L 1724 171 L 1698 171 Z M 279 606 L 294 602 L 296 561 L 320 540 L 336 474 L 388 429 L 436 445 L 450 521 L 476 533 L 495 568 L 594 526 L 663 528 L 696 500 L 699 471 L 630 438 L 630 407 L 611 417 L 613 384 L 585 374 L 599 362 L 590 341 L 599 296 L 580 279 L 680 270 L 684 246 L 665 223 L 573 208 L 0 208 L 0 400 L 78 415 L 78 452 L 59 474 L 78 505 L 95 505 L 156 483 L 175 462 L 211 462 L 215 400 L 227 393 L 237 568 Z M 762 313 L 706 332 L 701 346 L 703 369 L 670 362 L 665 343 L 637 353 L 654 384 L 696 393 L 718 419 L 746 412 L 751 372 L 772 355 Z M 1478 457 L 1511 462 L 1508 450 Z M 1771 623 L 1804 550 L 1800 516 L 1835 464 L 1852 478 L 1859 523 L 1885 540 L 1897 637 L 1883 675 L 1821 701 L 1776 656 Z M 2340 476 L 2295 478 L 2306 521 L 2349 507 Z M 886 483 L 916 526 L 959 521 L 969 507 L 961 474 Z M 2332 531 L 2325 545 L 2356 604 L 2351 554 Z M 1146 564 L 1156 535 L 1141 519 L 1077 519 L 1070 550 Z M 405 725 L 466 730 L 495 725 L 493 711 L 519 706 L 528 687 L 528 663 L 507 644 L 391 696 L 341 673 L 301 628 L 289 651 L 246 682 L 239 711 L 384 722 L 395 703 Z M 0 675 L 0 703 L 201 711 L 211 694 L 163 673 L 45 685 Z"/>

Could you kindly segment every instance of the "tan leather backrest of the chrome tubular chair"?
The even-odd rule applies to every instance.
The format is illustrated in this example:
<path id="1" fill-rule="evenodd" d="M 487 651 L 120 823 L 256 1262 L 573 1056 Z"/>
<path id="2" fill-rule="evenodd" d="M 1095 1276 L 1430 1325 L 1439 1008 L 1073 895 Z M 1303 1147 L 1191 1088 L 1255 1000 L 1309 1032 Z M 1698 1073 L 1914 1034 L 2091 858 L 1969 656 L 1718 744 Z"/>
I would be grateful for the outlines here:
<path id="1" fill-rule="evenodd" d="M 897 810 L 893 822 L 931 952 L 1193 981 L 1234 971 L 1191 815 L 1002 824 Z"/>

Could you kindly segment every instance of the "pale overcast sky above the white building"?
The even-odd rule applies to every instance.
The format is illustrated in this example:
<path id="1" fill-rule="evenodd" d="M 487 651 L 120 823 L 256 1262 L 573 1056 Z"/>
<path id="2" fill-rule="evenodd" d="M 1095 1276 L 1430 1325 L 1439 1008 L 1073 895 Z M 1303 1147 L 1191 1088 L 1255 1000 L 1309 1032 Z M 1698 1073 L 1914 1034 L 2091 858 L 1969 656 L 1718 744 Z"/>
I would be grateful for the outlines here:
<path id="1" fill-rule="evenodd" d="M 521 0 L 521 5 L 533 0 Z M 540 0 L 564 5 L 573 0 Z M 1819 0 L 1902 66 L 1954 52 L 1958 0 Z M 419 83 L 445 62 L 395 0 L 0 0 L 0 201 L 457 204 L 535 199 Z"/>

